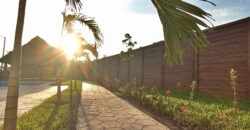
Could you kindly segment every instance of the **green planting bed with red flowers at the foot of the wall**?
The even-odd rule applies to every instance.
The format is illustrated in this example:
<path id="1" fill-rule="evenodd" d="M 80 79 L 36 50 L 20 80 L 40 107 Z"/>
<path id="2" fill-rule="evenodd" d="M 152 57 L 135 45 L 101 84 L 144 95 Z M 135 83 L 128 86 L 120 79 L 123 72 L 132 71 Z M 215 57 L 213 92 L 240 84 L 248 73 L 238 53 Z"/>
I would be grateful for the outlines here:
<path id="1" fill-rule="evenodd" d="M 190 101 L 189 93 L 172 91 L 165 99 L 163 90 L 158 90 L 154 98 L 153 89 L 144 88 L 143 100 L 140 100 L 138 89 L 132 88 L 129 95 L 126 91 L 124 86 L 114 93 L 158 114 L 168 115 L 189 129 L 250 129 L 250 101 L 239 101 L 239 112 L 235 115 L 230 98 L 195 94 Z"/>

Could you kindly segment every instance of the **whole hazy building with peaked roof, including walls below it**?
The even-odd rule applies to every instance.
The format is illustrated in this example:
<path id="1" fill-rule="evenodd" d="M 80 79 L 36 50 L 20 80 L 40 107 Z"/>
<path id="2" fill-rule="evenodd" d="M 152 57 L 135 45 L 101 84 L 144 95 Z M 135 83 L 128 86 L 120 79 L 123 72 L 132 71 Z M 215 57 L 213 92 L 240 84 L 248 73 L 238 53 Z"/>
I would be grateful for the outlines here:
<path id="1" fill-rule="evenodd" d="M 11 66 L 12 52 L 0 59 L 4 67 L 0 71 L 0 80 L 7 80 L 9 66 Z M 67 64 L 65 53 L 55 47 L 50 46 L 42 38 L 36 36 L 27 44 L 22 46 L 22 79 L 47 79 L 55 78 Z"/>

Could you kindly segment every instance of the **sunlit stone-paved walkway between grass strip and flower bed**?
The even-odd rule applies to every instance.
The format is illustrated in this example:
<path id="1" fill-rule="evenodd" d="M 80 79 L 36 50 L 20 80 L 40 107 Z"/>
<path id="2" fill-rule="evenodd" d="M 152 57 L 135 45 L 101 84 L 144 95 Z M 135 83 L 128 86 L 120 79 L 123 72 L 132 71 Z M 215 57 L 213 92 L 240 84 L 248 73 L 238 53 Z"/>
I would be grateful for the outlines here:
<path id="1" fill-rule="evenodd" d="M 78 130 L 168 130 L 105 88 L 83 83 Z"/>

